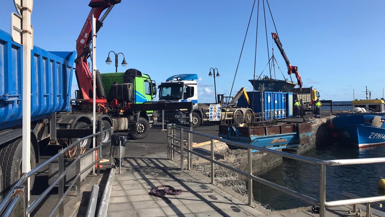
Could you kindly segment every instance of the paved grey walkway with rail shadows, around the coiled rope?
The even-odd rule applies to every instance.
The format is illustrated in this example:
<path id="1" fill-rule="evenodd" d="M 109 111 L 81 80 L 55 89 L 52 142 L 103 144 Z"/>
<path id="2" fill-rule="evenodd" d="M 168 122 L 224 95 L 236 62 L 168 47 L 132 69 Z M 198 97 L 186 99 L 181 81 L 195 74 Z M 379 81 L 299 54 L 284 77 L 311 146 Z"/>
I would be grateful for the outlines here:
<path id="1" fill-rule="evenodd" d="M 179 165 L 166 157 L 166 154 L 157 154 L 124 158 L 123 174 L 115 175 L 108 216 L 265 216 L 203 178 L 180 170 Z M 189 191 L 213 190 L 213 193 L 167 195 L 172 202 L 168 204 L 164 199 L 148 194 L 158 185 Z"/>

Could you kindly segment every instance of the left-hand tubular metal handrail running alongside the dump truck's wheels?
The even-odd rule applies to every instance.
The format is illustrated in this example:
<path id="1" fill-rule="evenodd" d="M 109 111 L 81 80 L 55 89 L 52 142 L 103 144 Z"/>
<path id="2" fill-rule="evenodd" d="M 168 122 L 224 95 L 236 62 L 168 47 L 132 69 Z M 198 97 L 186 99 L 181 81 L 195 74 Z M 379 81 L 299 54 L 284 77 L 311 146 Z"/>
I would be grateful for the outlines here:
<path id="1" fill-rule="evenodd" d="M 87 169 L 89 169 L 90 167 L 92 167 L 95 164 L 99 163 L 99 161 L 102 160 L 102 158 L 107 156 L 108 153 L 109 153 L 109 151 L 108 151 L 103 156 L 101 156 L 100 155 L 101 153 L 98 152 L 99 156 L 97 156 L 97 159 L 93 160 L 90 165 L 88 165 L 85 169 L 80 171 L 80 160 L 82 158 L 84 158 L 85 156 L 91 154 L 95 150 L 100 149 L 100 151 L 101 151 L 102 146 L 107 145 L 111 141 L 109 139 L 108 141 L 105 141 L 104 143 L 102 143 L 102 142 L 100 142 L 99 137 L 97 137 L 97 136 L 99 136 L 100 134 L 105 133 L 107 131 L 111 131 L 111 135 L 112 135 L 112 131 L 113 131 L 112 127 L 110 129 L 107 129 L 107 130 L 102 130 L 102 122 L 100 121 L 100 123 L 98 123 L 98 128 L 99 129 L 98 129 L 97 133 L 85 136 L 85 137 L 83 137 L 81 139 L 78 138 L 74 143 L 70 144 L 69 146 L 67 146 L 63 150 L 60 150 L 59 153 L 57 153 L 54 156 L 52 156 L 51 158 L 49 158 L 47 161 L 45 161 L 44 163 L 40 164 L 38 167 L 33 168 L 28 173 L 22 173 L 20 179 L 15 183 L 15 185 L 13 185 L 13 187 L 10 189 L 10 191 L 7 193 L 7 195 L 0 202 L 0 214 L 2 214 L 3 212 L 4 212 L 3 214 L 6 214 L 6 213 L 7 214 L 12 214 L 13 210 L 15 209 L 15 206 L 18 204 L 18 202 L 23 197 L 24 197 L 24 201 L 28 201 L 25 198 L 25 197 L 27 197 L 28 194 L 26 194 L 24 192 L 26 188 L 24 188 L 24 186 L 23 186 L 23 185 L 25 185 L 26 180 L 29 177 L 31 177 L 32 175 L 34 175 L 35 173 L 37 173 L 40 169 L 46 167 L 49 163 L 51 163 L 55 159 L 59 159 L 59 161 L 63 160 L 64 153 L 66 151 L 69 151 L 72 147 L 74 147 L 76 145 L 77 146 L 77 157 L 70 163 L 70 165 L 65 167 L 65 170 L 63 170 L 64 163 L 60 161 L 61 163 L 59 162 L 58 177 L 54 180 L 54 182 L 52 182 L 52 184 L 48 188 L 46 188 L 44 190 L 43 193 L 41 193 L 39 195 L 38 198 L 36 198 L 32 202 L 32 204 L 29 205 L 29 202 L 28 202 L 27 205 L 24 205 L 24 208 L 27 209 L 27 210 L 23 210 L 24 211 L 23 215 L 30 214 L 37 207 L 37 205 L 40 204 L 40 202 L 42 202 L 43 198 L 47 196 L 47 194 L 50 192 L 50 190 L 52 190 L 52 188 L 54 188 L 55 185 L 57 183 L 59 183 L 59 199 L 58 199 L 57 204 L 55 204 L 54 208 L 52 209 L 51 213 L 49 214 L 49 216 L 53 216 L 57 209 L 59 209 L 59 216 L 60 217 L 64 216 L 64 204 L 63 204 L 64 198 L 69 193 L 71 188 L 74 186 L 75 182 L 78 184 L 78 186 L 77 186 L 77 194 L 78 194 L 78 196 L 80 196 L 80 175 L 82 175 L 84 172 L 86 172 Z M 94 137 L 97 138 L 97 144 L 99 143 L 99 145 L 95 146 L 94 148 L 91 148 L 90 150 L 85 151 L 85 153 L 83 153 L 81 155 L 80 154 L 80 141 L 86 140 L 86 139 L 89 139 L 89 138 L 94 138 Z M 72 182 L 70 183 L 70 186 L 67 188 L 67 190 L 65 192 L 61 192 L 60 193 L 60 190 L 64 189 L 64 187 L 62 186 L 62 185 L 64 185 L 64 182 L 63 182 L 64 176 L 67 175 L 67 173 L 72 169 L 72 167 L 74 167 L 74 165 L 76 165 L 77 174 L 74 177 L 74 179 L 72 180 Z M 99 175 L 99 167 L 98 167 L 98 170 L 97 170 L 97 175 Z M 26 184 L 28 184 L 28 183 L 26 183 Z M 15 191 L 16 188 L 22 189 L 21 190 L 22 194 L 15 195 L 14 191 Z"/>

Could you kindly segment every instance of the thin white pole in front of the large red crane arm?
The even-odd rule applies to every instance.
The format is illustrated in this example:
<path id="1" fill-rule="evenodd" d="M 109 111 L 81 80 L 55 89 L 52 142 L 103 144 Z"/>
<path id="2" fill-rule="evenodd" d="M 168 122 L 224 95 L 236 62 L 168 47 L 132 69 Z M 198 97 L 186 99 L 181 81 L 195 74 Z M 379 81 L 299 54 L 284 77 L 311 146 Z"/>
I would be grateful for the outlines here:
<path id="1" fill-rule="evenodd" d="M 96 19 L 94 15 L 92 15 L 92 82 L 93 82 L 93 99 L 92 99 L 92 132 L 96 133 Z M 95 148 L 95 137 L 92 138 L 92 147 Z M 92 160 L 95 160 L 96 153 L 94 151 L 94 158 Z M 92 167 L 92 174 L 95 175 L 95 167 Z"/>

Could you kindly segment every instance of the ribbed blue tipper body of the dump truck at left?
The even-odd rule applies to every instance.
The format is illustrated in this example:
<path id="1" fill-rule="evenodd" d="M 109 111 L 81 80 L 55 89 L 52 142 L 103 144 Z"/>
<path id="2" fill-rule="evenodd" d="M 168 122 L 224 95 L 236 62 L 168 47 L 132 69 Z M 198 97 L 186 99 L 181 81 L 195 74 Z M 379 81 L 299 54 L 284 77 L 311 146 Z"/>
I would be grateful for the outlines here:
<path id="1" fill-rule="evenodd" d="M 23 48 L 0 30 L 0 129 L 22 122 Z M 76 52 L 31 51 L 31 121 L 70 111 Z"/>

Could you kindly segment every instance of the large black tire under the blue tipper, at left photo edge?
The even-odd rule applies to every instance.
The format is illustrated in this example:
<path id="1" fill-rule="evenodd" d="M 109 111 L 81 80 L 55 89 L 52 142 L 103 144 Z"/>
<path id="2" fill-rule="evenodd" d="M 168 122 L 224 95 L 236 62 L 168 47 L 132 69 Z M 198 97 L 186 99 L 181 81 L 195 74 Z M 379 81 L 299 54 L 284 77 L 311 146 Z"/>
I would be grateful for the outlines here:
<path id="1" fill-rule="evenodd" d="M 18 139 L 8 143 L 1 149 L 0 161 L 2 162 L 3 175 L 3 192 L 2 195 L 10 190 L 12 185 L 20 178 L 22 173 L 22 139 Z M 36 167 L 35 150 L 31 143 L 31 169 Z M 35 182 L 35 175 L 30 178 L 30 189 L 33 188 Z"/>

